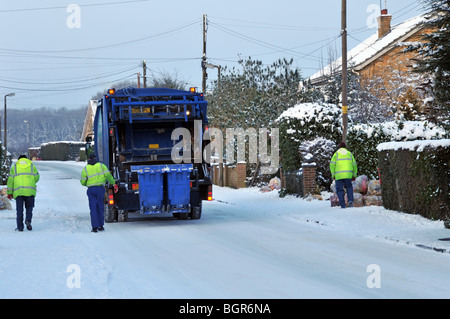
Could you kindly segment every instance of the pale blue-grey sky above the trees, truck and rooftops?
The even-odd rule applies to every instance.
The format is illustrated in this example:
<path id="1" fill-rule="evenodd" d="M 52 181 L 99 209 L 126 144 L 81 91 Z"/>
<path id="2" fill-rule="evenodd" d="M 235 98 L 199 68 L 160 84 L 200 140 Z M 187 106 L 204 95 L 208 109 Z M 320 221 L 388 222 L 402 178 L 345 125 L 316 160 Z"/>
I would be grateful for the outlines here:
<path id="1" fill-rule="evenodd" d="M 86 106 L 119 80 L 177 75 L 201 89 L 202 18 L 207 58 L 232 67 L 239 57 L 271 64 L 294 58 L 304 77 L 341 50 L 339 0 L 2 0 L 0 97 L 8 108 Z M 376 29 L 385 0 L 347 0 L 348 47 Z M 417 0 L 387 0 L 392 24 L 423 14 Z M 208 86 L 217 70 L 208 69 Z M 3 112 L 1 112 L 3 114 Z"/>

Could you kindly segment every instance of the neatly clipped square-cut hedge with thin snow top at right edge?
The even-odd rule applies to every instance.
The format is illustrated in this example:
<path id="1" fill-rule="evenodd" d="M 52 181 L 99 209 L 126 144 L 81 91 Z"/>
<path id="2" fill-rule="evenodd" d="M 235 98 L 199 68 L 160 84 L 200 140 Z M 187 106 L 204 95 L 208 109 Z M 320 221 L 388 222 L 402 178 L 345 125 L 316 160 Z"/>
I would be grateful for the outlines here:
<path id="1" fill-rule="evenodd" d="M 385 208 L 450 217 L 450 139 L 387 142 L 377 150 Z"/>

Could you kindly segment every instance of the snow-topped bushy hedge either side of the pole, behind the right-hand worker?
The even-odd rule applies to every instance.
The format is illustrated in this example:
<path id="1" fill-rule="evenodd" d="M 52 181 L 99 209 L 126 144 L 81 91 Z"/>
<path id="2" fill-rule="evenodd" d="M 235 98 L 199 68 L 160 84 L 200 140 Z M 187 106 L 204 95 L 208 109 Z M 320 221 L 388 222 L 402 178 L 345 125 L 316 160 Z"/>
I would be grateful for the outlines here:
<path id="1" fill-rule="evenodd" d="M 305 161 L 302 154 L 307 152 L 304 147 L 302 152 L 299 152 L 302 143 L 320 137 L 330 141 L 327 145 L 337 145 L 342 138 L 342 112 L 335 104 L 298 104 L 283 112 L 277 123 L 280 129 L 281 165 L 285 172 L 298 170 Z M 347 148 L 358 162 L 358 174 L 377 179 L 378 144 L 389 141 L 442 139 L 446 136 L 448 133 L 443 128 L 426 121 L 352 124 L 349 119 Z M 318 165 L 317 172 L 320 176 L 327 176 L 328 165 L 329 162 Z M 331 185 L 331 179 L 327 184 Z"/>

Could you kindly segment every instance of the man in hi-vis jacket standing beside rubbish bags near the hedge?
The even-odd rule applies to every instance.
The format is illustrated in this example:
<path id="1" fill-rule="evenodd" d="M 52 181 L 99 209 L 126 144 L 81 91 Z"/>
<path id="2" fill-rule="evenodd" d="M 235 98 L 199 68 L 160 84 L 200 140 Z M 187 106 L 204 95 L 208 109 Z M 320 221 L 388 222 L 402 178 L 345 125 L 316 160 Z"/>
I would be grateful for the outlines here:
<path id="1" fill-rule="evenodd" d="M 336 193 L 339 205 L 345 208 L 345 192 L 347 191 L 348 206 L 353 207 L 353 185 L 352 180 L 356 178 L 358 167 L 353 154 L 347 150 L 345 142 L 338 145 L 338 150 L 333 154 L 330 162 L 331 176 L 336 180 Z"/>

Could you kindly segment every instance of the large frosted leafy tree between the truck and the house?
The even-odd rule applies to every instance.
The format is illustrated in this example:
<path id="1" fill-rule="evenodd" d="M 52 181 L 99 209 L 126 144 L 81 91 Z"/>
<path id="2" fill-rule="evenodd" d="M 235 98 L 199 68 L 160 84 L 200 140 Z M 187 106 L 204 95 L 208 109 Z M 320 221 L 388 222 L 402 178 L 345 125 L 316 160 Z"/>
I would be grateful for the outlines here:
<path id="1" fill-rule="evenodd" d="M 225 128 L 272 127 L 277 117 L 300 102 L 317 98 L 310 85 L 300 88 L 300 71 L 293 60 L 280 59 L 271 65 L 240 60 L 240 68 L 224 69 L 207 97 L 211 125 Z"/>

